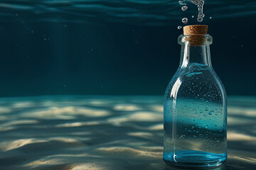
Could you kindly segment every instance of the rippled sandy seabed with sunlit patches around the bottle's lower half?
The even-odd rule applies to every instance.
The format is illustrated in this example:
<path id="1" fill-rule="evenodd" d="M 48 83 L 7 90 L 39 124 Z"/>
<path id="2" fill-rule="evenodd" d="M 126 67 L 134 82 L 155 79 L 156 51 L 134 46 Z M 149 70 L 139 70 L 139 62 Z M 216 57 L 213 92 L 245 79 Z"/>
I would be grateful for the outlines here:
<path id="1" fill-rule="evenodd" d="M 254 169 L 256 98 L 228 102 L 228 162 Z M 0 169 L 171 169 L 161 96 L 1 98 Z"/>

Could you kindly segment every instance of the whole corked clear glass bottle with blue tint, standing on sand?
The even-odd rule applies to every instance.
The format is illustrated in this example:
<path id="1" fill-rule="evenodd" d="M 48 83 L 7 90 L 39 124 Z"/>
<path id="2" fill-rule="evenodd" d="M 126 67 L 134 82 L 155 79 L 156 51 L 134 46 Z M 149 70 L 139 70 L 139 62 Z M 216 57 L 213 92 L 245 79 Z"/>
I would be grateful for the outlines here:
<path id="1" fill-rule="evenodd" d="M 164 161 L 208 168 L 224 164 L 227 101 L 210 62 L 208 26 L 185 26 L 181 62 L 164 96 Z M 187 32 L 187 33 L 185 33 Z"/>

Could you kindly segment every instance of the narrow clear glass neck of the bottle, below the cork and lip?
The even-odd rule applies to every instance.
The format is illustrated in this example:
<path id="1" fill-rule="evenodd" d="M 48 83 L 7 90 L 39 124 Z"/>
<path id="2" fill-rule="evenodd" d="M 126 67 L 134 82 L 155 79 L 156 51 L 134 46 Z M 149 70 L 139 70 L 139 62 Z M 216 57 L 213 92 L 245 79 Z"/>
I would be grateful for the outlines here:
<path id="1" fill-rule="evenodd" d="M 191 63 L 205 64 L 211 66 L 210 45 L 191 46 L 189 43 L 181 45 L 180 67 L 188 67 Z"/>

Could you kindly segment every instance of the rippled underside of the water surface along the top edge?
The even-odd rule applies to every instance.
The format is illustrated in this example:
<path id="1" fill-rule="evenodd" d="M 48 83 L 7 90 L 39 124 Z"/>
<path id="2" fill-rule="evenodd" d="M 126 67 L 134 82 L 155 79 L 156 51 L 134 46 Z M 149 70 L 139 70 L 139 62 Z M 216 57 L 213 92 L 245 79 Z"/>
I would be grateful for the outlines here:
<path id="1" fill-rule="evenodd" d="M 256 14 L 256 2 L 253 0 L 206 1 L 204 6 L 207 17 L 233 18 L 238 15 Z M 0 21 L 2 23 L 14 20 L 166 26 L 173 25 L 170 21 L 181 21 L 184 13 L 178 10 L 180 8 L 178 0 L 1 0 Z M 197 6 L 191 4 L 186 16 L 197 14 Z"/>

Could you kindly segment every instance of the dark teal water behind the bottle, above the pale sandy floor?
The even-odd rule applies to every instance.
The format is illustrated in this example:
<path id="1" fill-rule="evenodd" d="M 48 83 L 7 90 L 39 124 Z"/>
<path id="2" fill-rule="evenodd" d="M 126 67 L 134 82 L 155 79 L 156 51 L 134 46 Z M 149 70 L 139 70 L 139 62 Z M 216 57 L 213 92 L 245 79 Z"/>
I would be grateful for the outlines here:
<path id="1" fill-rule="evenodd" d="M 205 1 L 213 68 L 228 95 L 256 95 L 256 3 Z M 178 68 L 178 1 L 1 1 L 0 96 L 162 95 Z M 211 19 L 210 19 L 211 17 Z"/>

